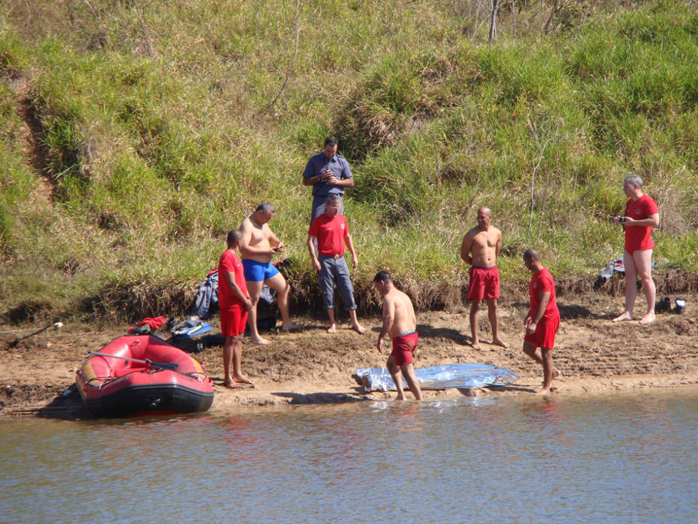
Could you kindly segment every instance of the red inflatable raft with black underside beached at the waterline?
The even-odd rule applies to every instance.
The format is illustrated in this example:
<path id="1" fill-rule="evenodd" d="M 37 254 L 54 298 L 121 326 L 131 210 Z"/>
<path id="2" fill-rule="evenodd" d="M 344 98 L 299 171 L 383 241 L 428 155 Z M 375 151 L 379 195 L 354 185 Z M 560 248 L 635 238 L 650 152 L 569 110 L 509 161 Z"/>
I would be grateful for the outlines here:
<path id="1" fill-rule="evenodd" d="M 213 404 L 202 364 L 162 339 L 119 337 L 90 352 L 75 382 L 95 416 L 192 413 Z"/>

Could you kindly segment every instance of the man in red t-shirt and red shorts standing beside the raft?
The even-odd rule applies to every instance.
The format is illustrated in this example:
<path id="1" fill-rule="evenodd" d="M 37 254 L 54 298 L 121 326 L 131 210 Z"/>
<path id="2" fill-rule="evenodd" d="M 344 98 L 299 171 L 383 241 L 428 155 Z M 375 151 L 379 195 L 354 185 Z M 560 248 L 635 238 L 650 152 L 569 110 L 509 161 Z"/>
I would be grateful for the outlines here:
<path id="1" fill-rule="evenodd" d="M 239 387 L 240 384 L 254 384 L 241 371 L 242 336 L 245 332 L 247 312 L 252 307 L 242 262 L 235 253 L 241 237 L 239 230 L 228 232 L 228 249 L 223 252 L 218 262 L 218 305 L 221 310 L 221 332 L 225 337 L 223 385 L 229 388 Z"/>

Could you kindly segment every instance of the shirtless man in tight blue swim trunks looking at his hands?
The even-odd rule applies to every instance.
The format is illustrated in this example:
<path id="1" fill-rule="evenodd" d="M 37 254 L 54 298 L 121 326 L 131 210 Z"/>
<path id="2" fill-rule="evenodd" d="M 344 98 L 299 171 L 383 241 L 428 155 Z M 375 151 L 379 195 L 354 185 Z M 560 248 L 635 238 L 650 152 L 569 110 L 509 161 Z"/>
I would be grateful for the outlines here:
<path id="1" fill-rule="evenodd" d="M 278 294 L 278 309 L 281 312 L 281 330 L 288 332 L 298 329 L 288 317 L 288 292 L 291 287 L 271 263 L 271 257 L 283 252 L 286 248 L 281 240 L 269 229 L 268 222 L 274 216 L 274 206 L 262 202 L 254 213 L 242 221 L 239 249 L 242 254 L 242 266 L 245 271 L 247 291 L 252 301 L 247 324 L 250 329 L 250 341 L 253 344 L 269 344 L 257 331 L 257 303 L 264 284 L 274 289 Z"/>

